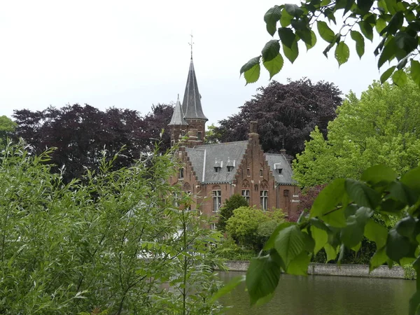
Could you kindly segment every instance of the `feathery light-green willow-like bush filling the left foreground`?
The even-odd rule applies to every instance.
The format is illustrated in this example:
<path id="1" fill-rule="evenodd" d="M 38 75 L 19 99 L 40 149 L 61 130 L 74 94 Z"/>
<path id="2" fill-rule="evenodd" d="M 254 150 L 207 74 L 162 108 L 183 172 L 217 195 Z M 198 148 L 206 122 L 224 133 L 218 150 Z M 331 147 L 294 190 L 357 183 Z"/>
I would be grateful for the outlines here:
<path id="1" fill-rule="evenodd" d="M 45 163 L 52 150 L 24 147 L 0 153 L 0 314 L 218 313 L 207 297 L 221 261 L 207 245 L 220 233 L 172 206 L 173 152 L 116 171 L 103 153 L 65 184 Z"/>

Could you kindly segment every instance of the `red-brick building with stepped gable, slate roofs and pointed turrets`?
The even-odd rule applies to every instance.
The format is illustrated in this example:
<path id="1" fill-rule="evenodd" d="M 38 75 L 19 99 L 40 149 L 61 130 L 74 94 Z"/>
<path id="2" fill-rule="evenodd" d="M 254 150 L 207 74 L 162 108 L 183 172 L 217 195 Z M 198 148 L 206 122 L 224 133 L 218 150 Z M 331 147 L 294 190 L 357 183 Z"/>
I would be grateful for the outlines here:
<path id="1" fill-rule="evenodd" d="M 206 122 L 191 58 L 183 103 L 178 97 L 169 123 L 172 145 L 187 136 L 178 152 L 183 167 L 169 182 L 197 196 L 193 209 L 214 215 L 225 200 L 238 193 L 259 209 L 275 207 L 289 215 L 297 211 L 299 188 L 293 183 L 286 151 L 264 153 L 255 122 L 247 141 L 206 145 Z"/>

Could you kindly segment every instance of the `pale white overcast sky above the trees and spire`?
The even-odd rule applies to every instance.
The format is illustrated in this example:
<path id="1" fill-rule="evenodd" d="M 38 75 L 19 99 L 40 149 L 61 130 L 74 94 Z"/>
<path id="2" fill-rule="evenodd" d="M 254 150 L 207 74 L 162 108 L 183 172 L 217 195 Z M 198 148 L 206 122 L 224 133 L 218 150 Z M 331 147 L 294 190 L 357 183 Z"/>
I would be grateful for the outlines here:
<path id="1" fill-rule="evenodd" d="M 204 114 L 217 123 L 269 83 L 264 70 L 245 86 L 239 69 L 271 39 L 263 16 L 274 4 L 281 1 L 1 1 L 0 116 L 76 103 L 143 114 L 175 102 L 183 97 L 193 31 Z M 379 78 L 373 49 L 367 45 L 360 61 L 347 43 L 351 57 L 340 68 L 333 52 L 322 55 L 327 44 L 318 38 L 309 52 L 300 47 L 295 64 L 285 58 L 274 79 L 306 76 L 360 94 Z"/>

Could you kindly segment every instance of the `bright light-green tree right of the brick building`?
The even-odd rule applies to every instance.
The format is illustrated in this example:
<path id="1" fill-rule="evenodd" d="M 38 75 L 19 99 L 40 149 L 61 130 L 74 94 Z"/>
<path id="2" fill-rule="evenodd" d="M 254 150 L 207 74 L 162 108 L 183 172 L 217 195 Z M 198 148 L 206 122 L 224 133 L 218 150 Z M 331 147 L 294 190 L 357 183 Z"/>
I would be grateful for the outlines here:
<path id="1" fill-rule="evenodd" d="M 374 82 L 360 99 L 349 94 L 328 124 L 328 139 L 316 129 L 293 163 L 300 186 L 332 179 L 360 179 L 363 170 L 387 165 L 403 174 L 420 163 L 420 91 L 408 80 L 398 87 Z"/>

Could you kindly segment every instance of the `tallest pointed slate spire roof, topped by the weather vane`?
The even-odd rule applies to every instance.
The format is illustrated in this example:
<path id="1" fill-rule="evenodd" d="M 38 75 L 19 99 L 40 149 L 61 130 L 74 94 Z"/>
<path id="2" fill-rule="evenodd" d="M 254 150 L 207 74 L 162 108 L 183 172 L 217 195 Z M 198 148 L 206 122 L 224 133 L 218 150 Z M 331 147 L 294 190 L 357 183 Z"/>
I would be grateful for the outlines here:
<path id="1" fill-rule="evenodd" d="M 184 118 L 193 119 L 204 119 L 208 120 L 204 116 L 203 109 L 201 106 L 201 96 L 198 92 L 197 78 L 195 78 L 195 70 L 193 64 L 193 57 L 191 57 L 190 70 L 188 71 L 186 92 L 184 92 L 184 98 L 182 102 L 182 111 Z"/>

